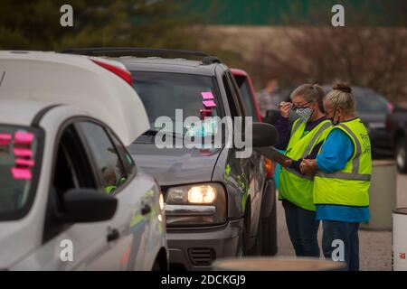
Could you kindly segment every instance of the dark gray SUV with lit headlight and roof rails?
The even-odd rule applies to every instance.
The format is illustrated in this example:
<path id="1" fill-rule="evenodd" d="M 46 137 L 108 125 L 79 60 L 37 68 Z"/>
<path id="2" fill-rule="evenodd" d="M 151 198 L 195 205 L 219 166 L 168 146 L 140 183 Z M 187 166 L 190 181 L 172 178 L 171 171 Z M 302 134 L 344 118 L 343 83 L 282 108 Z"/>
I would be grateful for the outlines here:
<path id="1" fill-rule="evenodd" d="M 215 258 L 277 253 L 276 196 L 266 178 L 264 159 L 253 151 L 239 158 L 235 145 L 222 138 L 221 147 L 158 148 L 156 120 L 165 117 L 177 126 L 187 117 L 245 117 L 240 91 L 231 70 L 203 52 L 145 49 L 87 49 L 80 54 L 185 55 L 198 60 L 161 57 L 115 57 L 132 72 L 134 88 L 143 100 L 151 129 L 129 147 L 136 163 L 156 177 L 165 195 L 170 268 L 203 270 Z M 209 102 L 207 102 L 209 101 Z M 182 116 L 176 112 L 182 109 Z M 135 111 L 137 113 L 137 111 Z M 161 123 L 162 124 L 162 123 Z M 205 136 L 216 134 L 213 127 Z M 202 134 L 182 126 L 166 137 L 174 144 L 185 135 Z M 239 127 L 233 128 L 233 135 Z M 253 123 L 253 146 L 274 145 L 277 132 L 268 124 Z"/>

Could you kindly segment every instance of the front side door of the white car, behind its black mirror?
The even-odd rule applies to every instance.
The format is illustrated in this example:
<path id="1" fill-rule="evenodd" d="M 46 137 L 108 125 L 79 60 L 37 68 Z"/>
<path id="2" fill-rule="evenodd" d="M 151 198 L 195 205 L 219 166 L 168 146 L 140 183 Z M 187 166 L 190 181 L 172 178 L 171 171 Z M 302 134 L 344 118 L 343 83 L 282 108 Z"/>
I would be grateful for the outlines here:
<path id="1" fill-rule="evenodd" d="M 89 155 L 72 124 L 64 124 L 55 141 L 49 198 L 43 224 L 43 245 L 15 269 L 83 269 L 108 250 L 106 221 L 72 224 L 61 220 L 63 195 L 71 189 L 99 188 Z"/>

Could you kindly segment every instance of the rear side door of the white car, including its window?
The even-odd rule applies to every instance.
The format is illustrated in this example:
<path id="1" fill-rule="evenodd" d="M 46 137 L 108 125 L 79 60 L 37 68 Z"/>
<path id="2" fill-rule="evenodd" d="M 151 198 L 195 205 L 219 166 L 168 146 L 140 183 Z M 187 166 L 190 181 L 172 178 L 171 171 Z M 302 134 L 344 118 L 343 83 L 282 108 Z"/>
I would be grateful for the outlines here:
<path id="1" fill-rule="evenodd" d="M 151 191 L 139 182 L 131 156 L 109 128 L 90 121 L 76 126 L 89 148 L 102 190 L 118 199 L 118 210 L 108 226 L 109 250 L 88 269 L 145 269 Z"/>

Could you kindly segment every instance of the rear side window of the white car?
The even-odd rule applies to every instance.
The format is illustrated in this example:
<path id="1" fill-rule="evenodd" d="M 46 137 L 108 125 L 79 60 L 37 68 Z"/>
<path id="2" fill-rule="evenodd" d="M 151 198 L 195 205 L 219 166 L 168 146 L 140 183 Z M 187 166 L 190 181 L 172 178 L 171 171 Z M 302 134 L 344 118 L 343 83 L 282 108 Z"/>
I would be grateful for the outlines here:
<path id="1" fill-rule="evenodd" d="M 105 128 L 91 122 L 80 122 L 83 137 L 90 147 L 103 190 L 113 193 L 127 180 L 127 174 Z"/>

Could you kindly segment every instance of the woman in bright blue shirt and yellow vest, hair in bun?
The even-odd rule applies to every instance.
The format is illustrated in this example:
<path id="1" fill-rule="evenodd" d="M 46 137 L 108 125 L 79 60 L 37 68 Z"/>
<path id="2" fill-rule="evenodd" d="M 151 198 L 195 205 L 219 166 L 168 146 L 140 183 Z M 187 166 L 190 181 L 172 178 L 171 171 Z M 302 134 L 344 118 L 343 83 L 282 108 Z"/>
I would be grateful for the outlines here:
<path id="1" fill-rule="evenodd" d="M 304 160 L 301 171 L 315 175 L 314 201 L 322 220 L 324 256 L 359 270 L 359 223 L 370 219 L 372 156 L 369 136 L 355 117 L 352 89 L 336 84 L 324 100 L 334 123 L 316 160 Z"/>

